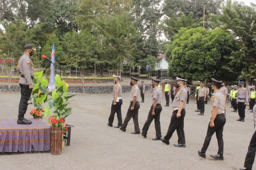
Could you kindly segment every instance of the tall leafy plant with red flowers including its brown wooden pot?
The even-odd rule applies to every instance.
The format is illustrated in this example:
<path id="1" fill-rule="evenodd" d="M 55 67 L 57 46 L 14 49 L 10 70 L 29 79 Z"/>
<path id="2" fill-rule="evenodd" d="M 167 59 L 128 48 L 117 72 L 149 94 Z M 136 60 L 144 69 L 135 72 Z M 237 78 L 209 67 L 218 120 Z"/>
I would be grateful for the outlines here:
<path id="1" fill-rule="evenodd" d="M 46 114 L 52 115 L 50 109 L 53 108 L 53 113 L 49 117 L 48 121 L 51 123 L 51 154 L 58 155 L 62 152 L 62 135 L 67 132 L 65 119 L 71 114 L 72 107 L 69 106 L 68 101 L 71 96 L 66 96 L 68 93 L 68 84 L 60 79 L 57 74 L 55 76 L 56 89 L 51 93 L 52 98 L 47 101 L 47 105 L 44 108 Z"/>

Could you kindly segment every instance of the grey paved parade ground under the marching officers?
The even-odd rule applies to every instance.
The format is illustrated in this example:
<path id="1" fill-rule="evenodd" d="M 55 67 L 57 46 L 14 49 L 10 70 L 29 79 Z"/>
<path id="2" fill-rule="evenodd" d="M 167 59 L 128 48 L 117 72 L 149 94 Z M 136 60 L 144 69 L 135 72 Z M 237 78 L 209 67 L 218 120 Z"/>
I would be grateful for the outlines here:
<path id="1" fill-rule="evenodd" d="M 122 116 L 125 118 L 129 94 L 123 94 Z M 0 119 L 17 117 L 20 94 L 0 93 Z M 227 122 L 224 126 L 224 161 L 211 158 L 217 153 L 216 136 L 207 150 L 207 158 L 198 156 L 207 126 L 211 118 L 211 105 L 205 106 L 205 115 L 197 115 L 195 99 L 190 98 L 186 107 L 185 137 L 186 148 L 176 148 L 177 134 L 174 132 L 170 145 L 153 141 L 155 137 L 154 122 L 148 130 L 147 138 L 131 134 L 134 131 L 133 121 L 126 132 L 109 127 L 106 123 L 110 114 L 111 94 L 76 95 L 72 102 L 73 114 L 67 123 L 74 125 L 71 130 L 71 145 L 65 146 L 61 155 L 50 153 L 2 155 L 0 169 L 208 169 L 236 170 L 243 167 L 248 144 L 254 133 L 253 114 L 246 107 L 245 122 L 238 122 L 238 113 L 230 112 L 227 104 Z M 210 102 L 209 102 L 210 103 Z M 162 106 L 165 105 L 163 96 Z M 151 106 L 150 94 L 145 94 L 145 103 L 140 104 L 139 125 L 142 130 Z M 29 105 L 26 118 L 31 118 Z M 163 107 L 161 112 L 161 131 L 165 136 L 171 117 L 170 107 Z M 44 117 L 44 120 L 47 120 Z M 113 125 L 117 125 L 117 118 Z M 256 169 L 256 164 L 254 165 Z"/>

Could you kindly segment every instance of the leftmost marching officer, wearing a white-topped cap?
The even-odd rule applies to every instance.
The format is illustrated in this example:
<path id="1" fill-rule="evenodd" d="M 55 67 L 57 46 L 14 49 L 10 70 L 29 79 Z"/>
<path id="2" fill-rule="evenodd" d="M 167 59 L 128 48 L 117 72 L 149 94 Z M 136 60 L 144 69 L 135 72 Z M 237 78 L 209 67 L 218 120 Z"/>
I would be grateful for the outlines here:
<path id="1" fill-rule="evenodd" d="M 111 105 L 111 111 L 109 115 L 109 122 L 107 123 L 108 126 L 113 126 L 113 121 L 115 117 L 115 113 L 117 115 L 118 124 L 117 126 L 114 126 L 115 128 L 122 126 L 122 113 L 121 113 L 121 106 L 123 104 L 122 100 L 122 86 L 119 83 L 121 77 L 113 75 L 113 83 L 115 83 L 115 86 L 113 88 L 113 101 Z"/>

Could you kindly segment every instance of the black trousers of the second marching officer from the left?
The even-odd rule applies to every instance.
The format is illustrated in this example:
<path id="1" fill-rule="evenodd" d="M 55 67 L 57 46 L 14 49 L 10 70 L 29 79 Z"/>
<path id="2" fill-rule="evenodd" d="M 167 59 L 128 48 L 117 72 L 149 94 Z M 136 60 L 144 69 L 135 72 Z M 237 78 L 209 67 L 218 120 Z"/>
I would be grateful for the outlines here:
<path id="1" fill-rule="evenodd" d="M 134 131 L 137 133 L 140 133 L 140 127 L 139 127 L 139 121 L 138 121 L 138 113 L 139 113 L 139 108 L 140 108 L 140 103 L 136 102 L 136 104 L 134 105 L 134 110 L 131 111 L 131 106 L 132 106 L 132 102 L 127 110 L 127 114 L 124 120 L 124 123 L 122 125 L 122 130 L 125 130 L 128 122 L 130 121 L 130 119 L 133 119 L 133 123 L 134 123 Z"/>

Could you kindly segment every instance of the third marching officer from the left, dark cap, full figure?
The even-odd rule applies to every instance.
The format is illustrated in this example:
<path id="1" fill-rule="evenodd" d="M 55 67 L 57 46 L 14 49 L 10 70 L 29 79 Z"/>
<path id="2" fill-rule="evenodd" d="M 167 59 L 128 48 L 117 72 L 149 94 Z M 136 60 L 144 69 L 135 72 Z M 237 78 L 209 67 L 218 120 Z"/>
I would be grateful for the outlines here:
<path id="1" fill-rule="evenodd" d="M 155 129 L 156 129 L 156 137 L 152 140 L 160 140 L 162 137 L 161 135 L 161 126 L 160 126 L 160 113 L 162 111 L 161 101 L 162 101 L 162 91 L 157 88 L 158 84 L 161 80 L 152 78 L 152 106 L 150 111 L 148 112 L 147 120 L 142 128 L 141 135 L 146 138 L 147 137 L 147 130 L 153 120 L 155 120 Z"/>

